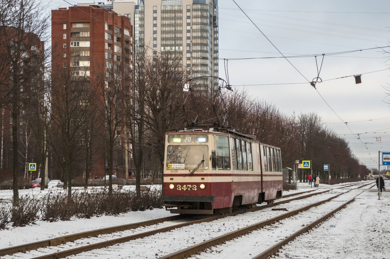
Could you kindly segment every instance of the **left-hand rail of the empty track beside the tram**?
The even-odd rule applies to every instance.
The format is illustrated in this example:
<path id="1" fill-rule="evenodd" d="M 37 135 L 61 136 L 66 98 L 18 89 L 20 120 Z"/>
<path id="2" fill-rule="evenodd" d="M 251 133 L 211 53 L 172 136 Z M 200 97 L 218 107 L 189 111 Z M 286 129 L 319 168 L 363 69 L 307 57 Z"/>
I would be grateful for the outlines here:
<path id="1" fill-rule="evenodd" d="M 352 190 L 356 190 L 356 189 L 351 189 L 351 190 L 348 190 L 347 192 L 350 192 Z M 284 213 L 282 215 L 275 216 L 269 220 L 264 220 L 262 222 L 252 224 L 248 227 L 244 227 L 244 228 L 238 229 L 236 231 L 232 231 L 232 232 L 224 234 L 222 236 L 218 236 L 216 238 L 212 238 L 212 239 L 209 239 L 207 241 L 203 241 L 202 243 L 181 249 L 181 250 L 173 252 L 171 254 L 159 257 L 158 259 L 182 259 L 182 258 L 191 257 L 194 254 L 198 254 L 199 252 L 206 250 L 207 248 L 210 248 L 210 247 L 213 247 L 216 245 L 220 245 L 222 243 L 225 243 L 228 240 L 237 238 L 239 236 L 243 236 L 243 235 L 248 234 L 249 232 L 252 232 L 254 230 L 261 229 L 262 227 L 265 227 L 266 225 L 273 224 L 279 220 L 283 220 L 285 218 L 289 218 L 291 216 L 297 215 L 298 213 L 300 213 L 302 211 L 306 211 L 312 207 L 316 207 L 316 206 L 319 206 L 319 205 L 324 204 L 326 202 L 329 202 L 330 200 L 335 199 L 336 197 L 339 197 L 340 195 L 345 194 L 347 192 L 343 192 L 343 193 L 334 195 L 334 196 L 330 197 L 329 199 L 322 200 L 322 201 L 316 202 L 314 204 L 310 204 L 310 205 L 302 207 L 300 209 L 295 209 L 293 211 Z"/>

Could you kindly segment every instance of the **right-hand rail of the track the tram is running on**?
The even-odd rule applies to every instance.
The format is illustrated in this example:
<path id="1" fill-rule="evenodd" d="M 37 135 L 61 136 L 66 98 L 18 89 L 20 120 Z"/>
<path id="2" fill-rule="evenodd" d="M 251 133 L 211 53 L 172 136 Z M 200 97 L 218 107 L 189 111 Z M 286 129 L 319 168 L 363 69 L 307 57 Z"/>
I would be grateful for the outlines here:
<path id="1" fill-rule="evenodd" d="M 181 223 L 181 224 L 173 225 L 173 226 L 170 226 L 170 227 L 164 227 L 164 228 L 156 229 L 156 230 L 152 230 L 152 231 L 147 231 L 147 232 L 143 232 L 143 233 L 140 233 L 140 234 L 135 234 L 135 235 L 131 235 L 131 236 L 125 236 L 125 237 L 112 239 L 112 240 L 108 240 L 108 241 L 102 241 L 102 242 L 99 242 L 99 243 L 95 243 L 95 244 L 91 244 L 91 245 L 87 245 L 87 246 L 82 246 L 82 247 L 78 247 L 78 248 L 72 248 L 72 249 L 69 249 L 69 250 L 64 250 L 64 251 L 56 252 L 56 253 L 53 253 L 53 254 L 42 255 L 40 257 L 34 257 L 34 259 L 43 259 L 43 258 L 45 258 L 45 259 L 58 259 L 58 258 L 64 258 L 64 257 L 67 257 L 69 255 L 80 254 L 82 252 L 108 247 L 108 246 L 111 246 L 111 245 L 128 242 L 130 240 L 134 240 L 134 239 L 138 239 L 138 238 L 144 238 L 144 237 L 147 237 L 147 236 L 152 236 L 154 234 L 171 231 L 173 229 L 186 227 L 188 225 L 199 224 L 199 223 L 203 223 L 203 222 L 210 222 L 210 221 L 217 220 L 217 219 L 220 219 L 220 218 L 224 218 L 224 217 L 227 217 L 227 216 L 239 215 L 239 214 L 243 214 L 243 213 L 250 212 L 250 211 L 257 211 L 257 210 L 261 210 L 261 209 L 264 209 L 264 208 L 269 208 L 269 207 L 277 206 L 277 205 L 280 205 L 280 204 L 285 204 L 285 203 L 288 203 L 288 202 L 291 202 L 291 201 L 294 201 L 294 200 L 305 199 L 305 198 L 312 197 L 314 195 L 318 195 L 318 194 L 321 194 L 321 193 L 326 193 L 326 192 L 329 192 L 329 191 L 330 190 L 325 190 L 325 191 L 322 191 L 322 192 L 316 192 L 316 193 L 311 193 L 311 194 L 307 194 L 307 195 L 298 196 L 298 197 L 295 197 L 295 198 L 292 198 L 292 199 L 288 199 L 288 200 L 281 200 L 279 202 L 274 202 L 272 204 L 258 206 L 258 207 L 251 208 L 251 209 L 245 209 L 245 210 L 235 211 L 235 212 L 224 214 L 224 215 L 212 216 L 212 217 L 208 217 L 208 218 L 204 218 L 204 219 L 200 219 L 200 220 L 193 220 L 193 221 L 190 221 L 190 222 L 184 222 L 184 223 Z M 296 194 L 296 195 L 298 195 L 298 194 Z M 142 223 L 142 222 L 140 222 L 140 223 Z M 153 224 L 150 224 L 150 225 L 153 225 Z M 89 232 L 93 232 L 93 231 L 89 231 Z M 82 233 L 80 233 L 80 234 L 82 234 Z M 96 235 L 92 235 L 92 236 L 96 236 Z"/>

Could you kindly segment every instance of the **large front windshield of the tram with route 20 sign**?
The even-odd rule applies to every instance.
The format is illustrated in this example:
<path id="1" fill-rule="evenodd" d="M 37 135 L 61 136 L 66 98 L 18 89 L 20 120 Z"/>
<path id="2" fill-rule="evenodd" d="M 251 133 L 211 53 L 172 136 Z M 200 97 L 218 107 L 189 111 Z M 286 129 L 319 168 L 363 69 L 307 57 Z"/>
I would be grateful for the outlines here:
<path id="1" fill-rule="evenodd" d="M 209 168 L 207 159 L 209 148 L 207 145 L 168 145 L 167 147 L 167 169 L 194 169 L 200 165 L 199 170 Z"/>

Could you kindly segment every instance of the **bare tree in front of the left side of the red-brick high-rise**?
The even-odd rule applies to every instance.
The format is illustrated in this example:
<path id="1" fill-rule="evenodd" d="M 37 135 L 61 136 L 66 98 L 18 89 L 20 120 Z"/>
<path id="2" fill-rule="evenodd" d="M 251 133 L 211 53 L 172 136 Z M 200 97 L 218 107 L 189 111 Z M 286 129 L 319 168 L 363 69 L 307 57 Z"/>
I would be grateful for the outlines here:
<path id="1" fill-rule="evenodd" d="M 56 137 L 51 138 L 51 149 L 64 174 L 68 202 L 71 202 L 72 168 L 83 153 L 83 127 L 90 114 L 91 91 L 87 72 L 82 74 L 70 69 L 67 73 L 52 73 L 51 120 Z"/>

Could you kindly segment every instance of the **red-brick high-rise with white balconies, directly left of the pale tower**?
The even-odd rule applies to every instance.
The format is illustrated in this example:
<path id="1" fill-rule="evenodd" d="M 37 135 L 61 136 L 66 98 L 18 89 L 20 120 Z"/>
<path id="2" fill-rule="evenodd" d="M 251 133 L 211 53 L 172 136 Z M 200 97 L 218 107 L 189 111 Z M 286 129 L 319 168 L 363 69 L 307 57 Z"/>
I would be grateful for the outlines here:
<path id="1" fill-rule="evenodd" d="M 84 75 L 90 87 L 97 87 L 102 75 L 120 75 L 123 87 L 129 87 L 126 75 L 133 71 L 133 27 L 128 17 L 111 9 L 92 6 L 72 6 L 52 10 L 52 67 L 53 73 L 72 73 L 74 80 Z M 110 80 L 106 80 L 110 87 Z M 125 177 L 123 136 L 116 141 L 114 174 Z M 100 158 L 92 165 L 90 179 L 108 174 L 104 144 Z M 130 156 L 127 156 L 130 160 Z"/>

